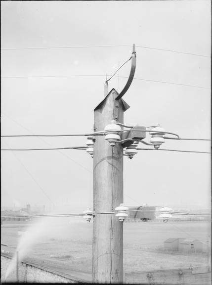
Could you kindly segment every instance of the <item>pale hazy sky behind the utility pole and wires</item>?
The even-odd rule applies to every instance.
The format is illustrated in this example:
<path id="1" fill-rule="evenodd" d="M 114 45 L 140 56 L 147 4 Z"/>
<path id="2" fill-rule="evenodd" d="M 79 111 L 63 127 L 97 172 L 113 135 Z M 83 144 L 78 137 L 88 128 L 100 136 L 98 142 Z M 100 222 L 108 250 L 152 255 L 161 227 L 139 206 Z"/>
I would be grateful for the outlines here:
<path id="1" fill-rule="evenodd" d="M 130 57 L 133 44 L 137 64 L 123 97 L 130 105 L 125 124 L 160 124 L 181 138 L 210 139 L 210 0 L 1 1 L 1 135 L 92 132 L 106 74 Z M 127 82 L 121 76 L 129 71 L 130 62 L 109 90 L 121 92 Z M 1 148 L 85 143 L 85 137 L 1 138 Z M 166 140 L 161 148 L 210 146 Z M 1 151 L 1 206 L 92 208 L 92 167 L 80 150 Z M 210 154 L 140 150 L 131 160 L 124 157 L 126 205 L 204 209 L 210 197 Z"/>

